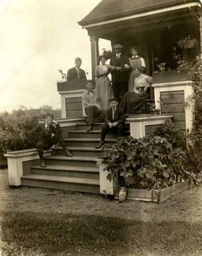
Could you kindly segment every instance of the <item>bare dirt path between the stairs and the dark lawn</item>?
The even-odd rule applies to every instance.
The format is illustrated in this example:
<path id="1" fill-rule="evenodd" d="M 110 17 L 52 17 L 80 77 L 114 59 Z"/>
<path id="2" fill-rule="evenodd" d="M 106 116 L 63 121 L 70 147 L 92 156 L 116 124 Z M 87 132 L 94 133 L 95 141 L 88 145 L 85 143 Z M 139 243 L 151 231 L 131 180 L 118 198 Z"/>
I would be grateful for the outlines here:
<path id="1" fill-rule="evenodd" d="M 175 195 L 159 205 L 137 201 L 118 204 L 101 195 L 28 187 L 10 189 L 7 170 L 0 170 L 0 213 L 1 211 L 78 213 L 159 222 L 201 222 L 202 186 Z"/>

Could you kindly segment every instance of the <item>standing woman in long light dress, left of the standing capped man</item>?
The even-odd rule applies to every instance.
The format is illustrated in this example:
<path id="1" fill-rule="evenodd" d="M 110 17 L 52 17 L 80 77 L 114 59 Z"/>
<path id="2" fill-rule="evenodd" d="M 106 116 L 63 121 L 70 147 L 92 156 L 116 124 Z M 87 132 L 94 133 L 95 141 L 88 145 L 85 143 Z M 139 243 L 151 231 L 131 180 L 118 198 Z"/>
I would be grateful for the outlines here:
<path id="1" fill-rule="evenodd" d="M 108 79 L 108 64 L 105 64 L 106 58 L 100 56 L 101 64 L 95 68 L 96 88 L 95 95 L 98 102 L 102 103 L 102 110 L 108 109 L 108 100 L 110 98 L 111 82 Z"/>

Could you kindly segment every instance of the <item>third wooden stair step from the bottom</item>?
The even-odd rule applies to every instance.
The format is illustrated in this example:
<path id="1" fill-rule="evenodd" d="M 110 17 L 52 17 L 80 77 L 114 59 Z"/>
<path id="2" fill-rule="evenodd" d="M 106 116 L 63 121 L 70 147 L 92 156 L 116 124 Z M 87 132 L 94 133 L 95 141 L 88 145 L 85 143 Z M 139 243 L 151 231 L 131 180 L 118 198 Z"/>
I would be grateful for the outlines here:
<path id="1" fill-rule="evenodd" d="M 96 167 L 96 156 L 46 156 L 47 165 L 66 165 L 66 166 L 85 166 L 85 167 Z"/>

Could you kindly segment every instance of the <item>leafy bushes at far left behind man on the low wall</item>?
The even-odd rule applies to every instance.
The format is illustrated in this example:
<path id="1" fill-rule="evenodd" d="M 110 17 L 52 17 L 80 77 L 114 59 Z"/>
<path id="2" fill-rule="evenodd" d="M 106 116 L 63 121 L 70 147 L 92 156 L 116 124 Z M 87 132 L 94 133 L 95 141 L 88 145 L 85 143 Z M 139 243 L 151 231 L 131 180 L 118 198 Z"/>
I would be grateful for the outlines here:
<path id="1" fill-rule="evenodd" d="M 35 145 L 28 140 L 28 132 L 33 129 L 37 122 L 44 118 L 47 113 L 60 117 L 59 110 L 51 106 L 42 106 L 40 109 L 26 109 L 20 106 L 11 114 L 0 114 L 0 160 L 4 159 L 4 153 L 8 150 L 23 150 L 33 148 Z"/>

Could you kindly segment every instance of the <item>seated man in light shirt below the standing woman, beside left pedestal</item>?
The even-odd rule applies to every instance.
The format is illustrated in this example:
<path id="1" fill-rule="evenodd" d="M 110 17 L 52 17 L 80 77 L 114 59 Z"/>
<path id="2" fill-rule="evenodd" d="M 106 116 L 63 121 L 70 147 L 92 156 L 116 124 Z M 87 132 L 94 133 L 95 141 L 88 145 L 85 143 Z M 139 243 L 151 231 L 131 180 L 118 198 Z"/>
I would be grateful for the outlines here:
<path id="1" fill-rule="evenodd" d="M 94 94 L 94 85 L 91 80 L 86 82 L 86 90 L 82 94 L 82 104 L 88 118 L 87 132 L 93 130 L 93 123 L 104 120 L 102 106 L 97 102 L 96 95 Z"/>

